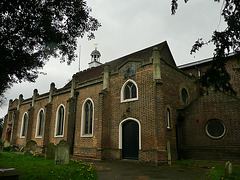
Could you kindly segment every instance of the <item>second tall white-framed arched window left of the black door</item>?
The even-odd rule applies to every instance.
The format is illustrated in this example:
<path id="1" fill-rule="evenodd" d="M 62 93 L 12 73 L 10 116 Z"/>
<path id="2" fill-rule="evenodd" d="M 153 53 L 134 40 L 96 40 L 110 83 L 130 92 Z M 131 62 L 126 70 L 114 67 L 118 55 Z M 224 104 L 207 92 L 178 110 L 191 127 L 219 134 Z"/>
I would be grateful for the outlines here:
<path id="1" fill-rule="evenodd" d="M 60 105 L 57 110 L 56 124 L 55 124 L 55 136 L 63 137 L 65 120 L 65 109 L 63 105 Z"/>

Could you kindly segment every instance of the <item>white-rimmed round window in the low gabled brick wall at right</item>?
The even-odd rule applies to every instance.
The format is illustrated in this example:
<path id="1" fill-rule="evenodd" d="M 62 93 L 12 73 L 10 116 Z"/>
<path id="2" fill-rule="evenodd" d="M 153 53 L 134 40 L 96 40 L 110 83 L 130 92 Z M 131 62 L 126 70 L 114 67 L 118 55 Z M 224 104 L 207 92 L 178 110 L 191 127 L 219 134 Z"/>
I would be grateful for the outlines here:
<path id="1" fill-rule="evenodd" d="M 221 121 L 213 119 L 208 121 L 206 125 L 206 132 L 209 137 L 219 139 L 224 136 L 226 128 Z"/>

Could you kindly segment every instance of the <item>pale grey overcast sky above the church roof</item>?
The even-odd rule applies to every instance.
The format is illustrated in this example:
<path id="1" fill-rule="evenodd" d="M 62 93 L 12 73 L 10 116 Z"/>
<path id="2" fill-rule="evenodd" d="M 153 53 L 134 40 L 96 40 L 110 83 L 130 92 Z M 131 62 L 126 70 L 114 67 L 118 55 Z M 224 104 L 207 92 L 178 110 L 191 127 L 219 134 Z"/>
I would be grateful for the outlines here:
<path id="1" fill-rule="evenodd" d="M 216 29 L 224 28 L 220 18 L 222 3 L 213 0 L 190 0 L 187 4 L 179 1 L 176 15 L 171 15 L 171 0 L 91 0 L 91 15 L 102 27 L 95 33 L 95 39 L 79 39 L 80 69 L 88 68 L 90 53 L 94 44 L 105 63 L 149 46 L 167 41 L 177 65 L 211 57 L 213 46 L 206 46 L 200 52 L 190 55 L 193 43 L 200 37 L 208 40 Z M 80 48 L 81 47 L 81 48 Z M 36 83 L 22 82 L 7 90 L 7 98 L 0 108 L 0 117 L 7 113 L 9 99 L 29 98 L 34 89 L 40 94 L 48 92 L 51 82 L 56 88 L 63 87 L 78 72 L 79 60 L 70 66 L 51 59 L 41 71 Z"/>

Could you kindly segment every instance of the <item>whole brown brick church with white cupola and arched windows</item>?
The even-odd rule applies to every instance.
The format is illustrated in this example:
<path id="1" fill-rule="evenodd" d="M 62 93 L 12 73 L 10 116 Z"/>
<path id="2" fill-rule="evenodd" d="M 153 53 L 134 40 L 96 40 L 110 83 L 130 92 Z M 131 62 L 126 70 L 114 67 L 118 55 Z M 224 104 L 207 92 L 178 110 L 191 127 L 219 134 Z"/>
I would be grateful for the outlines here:
<path id="1" fill-rule="evenodd" d="M 171 162 L 180 158 L 240 161 L 240 58 L 226 68 L 236 96 L 198 84 L 205 59 L 177 67 L 167 42 L 100 63 L 49 92 L 9 101 L 2 141 L 45 147 L 64 139 L 74 155 Z"/>

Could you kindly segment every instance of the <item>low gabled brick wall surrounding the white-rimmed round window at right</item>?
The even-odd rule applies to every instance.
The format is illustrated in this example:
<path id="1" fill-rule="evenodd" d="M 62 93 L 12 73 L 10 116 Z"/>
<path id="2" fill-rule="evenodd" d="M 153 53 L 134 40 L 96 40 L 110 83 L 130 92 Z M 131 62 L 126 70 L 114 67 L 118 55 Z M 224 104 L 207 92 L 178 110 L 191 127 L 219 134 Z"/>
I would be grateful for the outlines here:
<path id="1" fill-rule="evenodd" d="M 194 159 L 239 160 L 240 155 L 240 100 L 230 95 L 210 91 L 184 110 L 183 157 Z M 226 133 L 212 139 L 206 133 L 206 124 L 218 119 L 225 124 Z M 238 150 L 236 150 L 238 149 Z M 206 153 L 209 152 L 209 153 Z"/>

